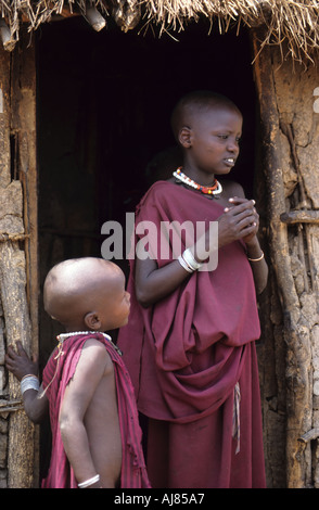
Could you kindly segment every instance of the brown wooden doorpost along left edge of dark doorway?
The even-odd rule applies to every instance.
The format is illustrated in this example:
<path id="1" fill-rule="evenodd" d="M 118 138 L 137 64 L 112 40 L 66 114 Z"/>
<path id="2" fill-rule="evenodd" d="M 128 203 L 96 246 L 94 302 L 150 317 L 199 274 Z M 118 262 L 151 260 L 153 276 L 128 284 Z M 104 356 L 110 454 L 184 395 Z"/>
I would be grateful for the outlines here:
<path id="1" fill-rule="evenodd" d="M 14 138 L 15 161 L 12 173 L 23 189 L 23 222 L 25 230 L 26 292 L 31 321 L 31 350 L 38 354 L 38 171 L 36 120 L 36 51 L 29 43 L 26 29 L 12 55 L 11 132 Z"/>

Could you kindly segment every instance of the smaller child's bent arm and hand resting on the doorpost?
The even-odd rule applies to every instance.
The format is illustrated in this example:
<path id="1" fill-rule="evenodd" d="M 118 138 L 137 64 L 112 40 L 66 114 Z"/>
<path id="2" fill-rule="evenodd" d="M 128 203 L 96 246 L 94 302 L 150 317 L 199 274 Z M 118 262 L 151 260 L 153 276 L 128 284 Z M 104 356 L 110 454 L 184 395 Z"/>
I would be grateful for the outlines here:
<path id="1" fill-rule="evenodd" d="M 16 350 L 12 345 L 8 347 L 5 367 L 18 381 L 21 381 L 25 375 L 38 374 L 37 359 L 33 360 L 28 357 L 21 342 L 16 342 Z M 49 409 L 48 398 L 46 395 L 38 398 L 38 395 L 41 392 L 42 387 L 40 386 L 39 391 L 30 388 L 26 390 L 23 394 L 25 412 L 34 423 L 40 423 L 47 416 Z"/>

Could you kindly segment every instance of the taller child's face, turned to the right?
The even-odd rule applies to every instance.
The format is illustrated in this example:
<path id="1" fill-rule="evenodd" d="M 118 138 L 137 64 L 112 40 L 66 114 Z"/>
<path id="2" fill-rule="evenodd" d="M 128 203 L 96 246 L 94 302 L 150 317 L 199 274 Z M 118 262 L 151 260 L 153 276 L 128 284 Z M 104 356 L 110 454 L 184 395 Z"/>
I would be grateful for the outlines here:
<path id="1" fill-rule="evenodd" d="M 196 168 L 217 175 L 229 174 L 239 155 L 242 116 L 234 110 L 207 109 L 191 127 L 189 161 Z"/>

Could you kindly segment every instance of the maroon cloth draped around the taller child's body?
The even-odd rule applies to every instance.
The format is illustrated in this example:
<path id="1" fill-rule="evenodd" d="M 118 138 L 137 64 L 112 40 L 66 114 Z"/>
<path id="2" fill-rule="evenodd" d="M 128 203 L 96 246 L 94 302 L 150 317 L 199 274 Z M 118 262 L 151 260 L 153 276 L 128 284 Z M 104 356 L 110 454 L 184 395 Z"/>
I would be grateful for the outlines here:
<path id="1" fill-rule="evenodd" d="M 193 225 L 205 220 L 207 229 L 209 221 L 216 221 L 222 213 L 216 200 L 207 200 L 182 186 L 157 181 L 137 208 L 133 246 L 143 239 L 139 232 L 146 221 L 161 229 L 163 222 L 174 220 Z M 173 246 L 166 259 L 161 257 L 160 238 L 158 234 L 157 252 L 149 246 L 158 268 L 176 258 Z M 186 247 L 182 238 L 181 252 Z M 192 273 L 176 291 L 149 308 L 142 308 L 137 302 L 135 258 L 131 258 L 128 291 L 131 310 L 128 324 L 119 332 L 118 345 L 132 379 L 139 411 L 160 420 L 163 430 L 169 423 L 163 448 L 169 450 L 167 473 L 175 474 L 168 475 L 167 484 L 173 487 L 264 486 L 255 353 L 260 327 L 244 243 L 238 241 L 219 248 L 215 270 Z M 231 433 L 235 386 L 241 392 L 241 447 L 237 456 L 238 445 Z M 201 441 L 194 436 L 194 428 L 201 431 Z M 162 439 L 157 436 L 154 441 L 160 444 Z M 186 449 L 193 454 L 189 464 L 182 460 Z M 175 468 L 170 469 L 173 464 Z"/>

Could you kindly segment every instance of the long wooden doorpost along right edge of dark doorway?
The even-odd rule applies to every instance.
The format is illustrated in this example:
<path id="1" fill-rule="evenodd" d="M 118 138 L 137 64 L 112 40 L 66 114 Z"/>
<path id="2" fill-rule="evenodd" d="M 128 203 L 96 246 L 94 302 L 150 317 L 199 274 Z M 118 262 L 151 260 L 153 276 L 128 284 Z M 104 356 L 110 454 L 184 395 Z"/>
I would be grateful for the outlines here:
<path id="1" fill-rule="evenodd" d="M 263 125 L 270 255 L 281 301 L 283 341 L 286 345 L 286 485 L 289 488 L 301 488 L 308 486 L 310 481 L 309 445 L 298 439 L 311 429 L 311 345 L 309 331 L 305 321 L 303 322 L 299 296 L 292 275 L 288 226 L 282 221 L 282 218 L 286 217 L 283 167 L 284 160 L 290 156 L 283 149 L 286 143 L 280 128 L 280 111 L 277 103 L 276 64 L 272 62 L 277 49 L 265 47 L 259 52 L 258 39 L 260 40 L 255 34 L 254 72 Z"/>

